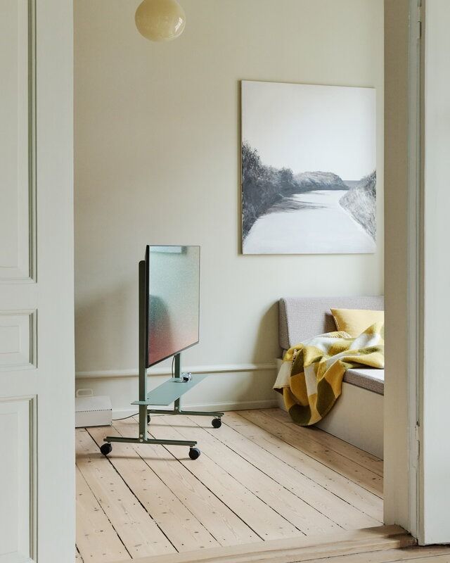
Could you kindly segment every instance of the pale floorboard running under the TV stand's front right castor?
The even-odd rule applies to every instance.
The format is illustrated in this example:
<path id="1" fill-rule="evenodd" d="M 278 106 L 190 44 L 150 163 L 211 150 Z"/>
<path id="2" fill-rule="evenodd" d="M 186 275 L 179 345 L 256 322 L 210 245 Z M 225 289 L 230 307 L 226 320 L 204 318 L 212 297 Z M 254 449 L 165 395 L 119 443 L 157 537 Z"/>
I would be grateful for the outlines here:
<path id="1" fill-rule="evenodd" d="M 153 419 L 155 417 L 152 417 L 152 421 Z M 159 424 L 158 427 L 155 427 L 150 424 L 150 429 L 152 434 L 153 431 L 155 432 L 155 435 L 183 439 L 179 431 L 170 426 Z M 188 457 L 187 448 L 180 446 L 165 446 L 165 448 L 264 540 L 292 538 L 301 534 L 295 526 L 252 494 L 248 488 L 245 488 L 207 455 L 193 461 Z"/>

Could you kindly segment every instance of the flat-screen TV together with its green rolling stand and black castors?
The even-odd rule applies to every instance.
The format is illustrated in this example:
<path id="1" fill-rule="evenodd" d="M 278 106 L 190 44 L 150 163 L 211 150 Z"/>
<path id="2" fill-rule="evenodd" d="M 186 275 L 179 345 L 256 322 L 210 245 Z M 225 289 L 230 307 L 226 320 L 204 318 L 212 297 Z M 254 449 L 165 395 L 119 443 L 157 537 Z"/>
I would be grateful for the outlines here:
<path id="1" fill-rule="evenodd" d="M 200 331 L 200 246 L 146 247 L 139 262 L 139 436 L 106 436 L 101 453 L 108 455 L 113 442 L 189 446 L 196 460 L 200 450 L 192 440 L 148 438 L 150 415 L 200 415 L 213 417 L 221 426 L 223 412 L 181 409 L 181 397 L 207 374 L 181 372 L 181 352 L 195 346 Z M 172 358 L 172 378 L 153 391 L 147 389 L 147 369 Z M 173 409 L 162 409 L 174 403 Z M 158 408 L 155 408 L 158 407 Z"/>

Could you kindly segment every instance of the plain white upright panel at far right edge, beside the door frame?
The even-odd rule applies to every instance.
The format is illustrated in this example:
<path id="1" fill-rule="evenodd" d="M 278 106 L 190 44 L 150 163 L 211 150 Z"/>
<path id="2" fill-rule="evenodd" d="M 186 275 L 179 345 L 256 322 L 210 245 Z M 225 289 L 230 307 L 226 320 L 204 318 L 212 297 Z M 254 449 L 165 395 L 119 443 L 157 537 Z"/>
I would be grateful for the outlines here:
<path id="1" fill-rule="evenodd" d="M 450 542 L 450 378 L 445 356 L 450 312 L 450 3 L 425 4 L 423 541 Z"/>

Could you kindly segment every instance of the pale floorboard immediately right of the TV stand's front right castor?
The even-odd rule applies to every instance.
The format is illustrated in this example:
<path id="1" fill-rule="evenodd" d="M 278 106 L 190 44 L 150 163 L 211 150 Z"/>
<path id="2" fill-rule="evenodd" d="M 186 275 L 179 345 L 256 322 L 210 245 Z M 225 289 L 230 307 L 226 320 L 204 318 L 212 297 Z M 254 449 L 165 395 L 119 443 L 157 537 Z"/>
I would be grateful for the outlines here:
<path id="1" fill-rule="evenodd" d="M 175 417 L 155 418 L 155 425 L 150 424 L 151 431 L 153 433 L 155 429 L 158 429 L 156 433 L 163 436 L 166 430 L 161 429 L 160 424 L 170 426 L 186 439 L 195 436 L 203 454 L 210 457 L 219 467 L 245 486 L 248 491 L 265 502 L 266 505 L 272 507 L 281 517 L 293 524 L 302 533 L 327 533 L 339 527 L 304 500 L 280 486 L 257 467 L 243 460 L 217 438 L 208 434 L 205 429 L 196 426 L 190 417 L 176 417 L 176 420 Z M 193 424 L 194 429 L 190 427 Z M 220 431 L 221 429 L 217 430 L 217 432 Z"/>

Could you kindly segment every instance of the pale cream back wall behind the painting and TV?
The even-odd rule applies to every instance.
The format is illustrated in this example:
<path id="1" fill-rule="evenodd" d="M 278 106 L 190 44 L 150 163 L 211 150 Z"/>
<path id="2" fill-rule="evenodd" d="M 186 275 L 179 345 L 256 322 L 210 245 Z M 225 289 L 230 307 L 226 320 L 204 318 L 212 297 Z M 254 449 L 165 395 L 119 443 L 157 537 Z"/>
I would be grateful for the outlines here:
<path id="1" fill-rule="evenodd" d="M 139 1 L 75 0 L 78 386 L 111 393 L 86 377 L 136 370 L 146 243 L 195 243 L 200 344 L 184 365 L 250 364 L 215 375 L 208 401 L 271 401 L 274 371 L 255 369 L 279 353 L 278 298 L 383 293 L 383 0 L 181 3 L 184 34 L 153 44 L 134 27 Z M 375 255 L 240 254 L 240 80 L 377 88 Z M 237 377 L 246 383 L 233 394 Z M 134 398 L 127 381 L 117 408 Z"/>

